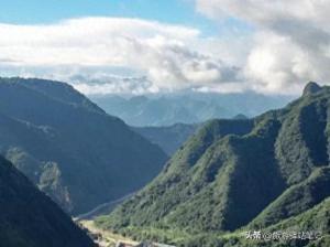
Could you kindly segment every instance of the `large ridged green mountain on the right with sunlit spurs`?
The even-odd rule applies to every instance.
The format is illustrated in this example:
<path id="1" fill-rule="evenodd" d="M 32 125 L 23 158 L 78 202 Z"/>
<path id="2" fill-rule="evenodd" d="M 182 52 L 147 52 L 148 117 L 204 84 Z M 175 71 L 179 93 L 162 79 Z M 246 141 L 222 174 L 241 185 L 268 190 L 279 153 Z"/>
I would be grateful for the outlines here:
<path id="1" fill-rule="evenodd" d="M 283 109 L 209 121 L 152 183 L 97 222 L 184 246 L 222 246 L 221 233 L 266 229 L 292 217 L 304 225 L 312 221 L 304 214 L 330 196 L 329 112 L 330 87 L 308 84 L 304 96 Z M 301 230 L 315 226 L 329 234 L 329 214 L 323 215 L 323 225 L 314 222 Z"/>

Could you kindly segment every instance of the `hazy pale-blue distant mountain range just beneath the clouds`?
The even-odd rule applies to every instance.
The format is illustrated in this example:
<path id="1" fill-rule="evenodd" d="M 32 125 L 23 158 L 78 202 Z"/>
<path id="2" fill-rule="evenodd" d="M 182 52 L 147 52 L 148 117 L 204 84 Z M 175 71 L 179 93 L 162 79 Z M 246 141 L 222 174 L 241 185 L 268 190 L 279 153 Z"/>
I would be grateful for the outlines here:
<path id="1" fill-rule="evenodd" d="M 292 97 L 256 93 L 173 93 L 163 95 L 90 95 L 108 114 L 134 127 L 160 127 L 175 124 L 200 124 L 213 118 L 256 116 L 283 107 Z"/>

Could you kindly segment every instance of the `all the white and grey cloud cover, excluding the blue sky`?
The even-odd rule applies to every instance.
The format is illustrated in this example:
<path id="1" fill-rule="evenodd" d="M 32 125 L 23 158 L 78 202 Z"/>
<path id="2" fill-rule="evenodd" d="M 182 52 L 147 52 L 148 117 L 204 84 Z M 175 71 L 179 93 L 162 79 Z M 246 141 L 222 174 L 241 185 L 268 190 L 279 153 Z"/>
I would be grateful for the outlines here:
<path id="1" fill-rule="evenodd" d="M 204 36 L 194 28 L 121 18 L 0 24 L 1 74 L 69 79 L 86 94 L 186 88 L 299 94 L 308 80 L 330 78 L 330 1 L 195 1 L 209 18 L 234 18 L 254 31 Z M 136 79 L 114 79 L 116 68 Z"/>

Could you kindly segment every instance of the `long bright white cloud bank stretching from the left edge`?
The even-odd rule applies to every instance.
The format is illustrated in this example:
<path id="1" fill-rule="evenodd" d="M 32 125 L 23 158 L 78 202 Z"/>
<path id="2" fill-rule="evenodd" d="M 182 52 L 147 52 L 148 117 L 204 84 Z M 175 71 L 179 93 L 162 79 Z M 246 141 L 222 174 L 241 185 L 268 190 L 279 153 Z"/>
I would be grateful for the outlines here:
<path id="1" fill-rule="evenodd" d="M 23 75 L 34 69 L 43 71 L 42 77 L 62 79 L 127 67 L 152 82 L 128 86 L 109 80 L 107 88 L 80 83 L 85 93 L 174 90 L 237 80 L 237 69 L 220 55 L 200 49 L 206 39 L 193 28 L 140 19 L 84 18 L 47 25 L 0 24 L 0 66 L 23 69 Z"/>

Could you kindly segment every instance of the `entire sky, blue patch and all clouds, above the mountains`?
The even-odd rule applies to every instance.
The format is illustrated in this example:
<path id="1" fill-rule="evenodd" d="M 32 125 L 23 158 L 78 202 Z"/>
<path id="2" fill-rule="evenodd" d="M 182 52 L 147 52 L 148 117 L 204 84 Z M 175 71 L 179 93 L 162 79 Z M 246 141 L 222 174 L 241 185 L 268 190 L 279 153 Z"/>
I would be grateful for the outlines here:
<path id="1" fill-rule="evenodd" d="M 85 94 L 327 84 L 327 0 L 0 0 L 0 75 Z"/>

